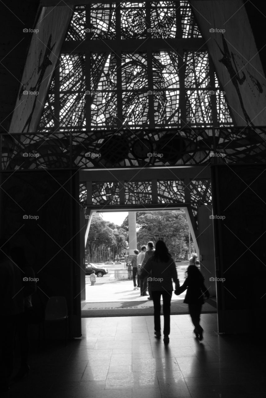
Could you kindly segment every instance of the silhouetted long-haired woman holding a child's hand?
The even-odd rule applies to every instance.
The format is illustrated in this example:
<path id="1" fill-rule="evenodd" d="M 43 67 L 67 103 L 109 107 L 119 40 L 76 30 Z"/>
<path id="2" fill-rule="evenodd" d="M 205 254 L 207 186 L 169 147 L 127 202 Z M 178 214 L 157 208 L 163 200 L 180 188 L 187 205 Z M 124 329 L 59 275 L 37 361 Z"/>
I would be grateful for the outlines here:
<path id="1" fill-rule="evenodd" d="M 142 269 L 140 279 L 148 277 L 152 293 L 154 308 L 154 334 L 161 337 L 161 296 L 163 297 L 163 342 L 169 343 L 171 298 L 173 294 L 173 282 L 175 290 L 179 289 L 179 280 L 175 261 L 167 249 L 165 242 L 158 240 L 153 256 L 148 259 Z"/>

